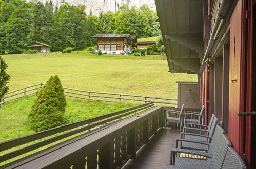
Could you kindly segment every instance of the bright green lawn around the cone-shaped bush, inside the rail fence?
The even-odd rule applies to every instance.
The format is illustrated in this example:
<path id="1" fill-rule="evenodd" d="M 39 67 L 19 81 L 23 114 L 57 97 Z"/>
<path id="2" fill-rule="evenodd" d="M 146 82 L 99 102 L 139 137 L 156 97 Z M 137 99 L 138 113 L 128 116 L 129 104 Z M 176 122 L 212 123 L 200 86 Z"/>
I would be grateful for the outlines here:
<path id="1" fill-rule="evenodd" d="M 27 117 L 36 96 L 9 102 L 0 108 L 0 142 L 34 133 Z M 85 101 L 67 98 L 64 124 L 134 107 L 131 103 Z"/>

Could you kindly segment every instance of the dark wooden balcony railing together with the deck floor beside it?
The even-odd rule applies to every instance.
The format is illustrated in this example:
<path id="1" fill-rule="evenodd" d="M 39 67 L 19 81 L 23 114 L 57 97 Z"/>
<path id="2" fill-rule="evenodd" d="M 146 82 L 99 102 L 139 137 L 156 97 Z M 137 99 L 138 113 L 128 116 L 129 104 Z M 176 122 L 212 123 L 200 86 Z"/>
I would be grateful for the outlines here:
<path id="1" fill-rule="evenodd" d="M 1 168 L 163 168 L 180 137 L 164 131 L 165 109 L 150 102 L 2 142 Z"/>

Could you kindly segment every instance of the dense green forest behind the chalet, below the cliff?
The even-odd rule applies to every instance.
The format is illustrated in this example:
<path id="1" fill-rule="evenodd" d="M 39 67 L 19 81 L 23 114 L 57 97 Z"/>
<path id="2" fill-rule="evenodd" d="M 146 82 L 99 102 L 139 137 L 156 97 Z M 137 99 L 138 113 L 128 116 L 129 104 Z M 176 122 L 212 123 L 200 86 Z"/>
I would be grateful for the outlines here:
<path id="1" fill-rule="evenodd" d="M 157 13 L 147 5 L 119 11 L 101 13 L 99 17 L 87 15 L 85 6 L 52 2 L 26 3 L 24 0 L 0 0 L 0 54 L 21 53 L 33 40 L 52 46 L 51 51 L 67 47 L 82 50 L 95 45 L 97 33 L 130 33 L 138 37 L 160 35 Z"/>

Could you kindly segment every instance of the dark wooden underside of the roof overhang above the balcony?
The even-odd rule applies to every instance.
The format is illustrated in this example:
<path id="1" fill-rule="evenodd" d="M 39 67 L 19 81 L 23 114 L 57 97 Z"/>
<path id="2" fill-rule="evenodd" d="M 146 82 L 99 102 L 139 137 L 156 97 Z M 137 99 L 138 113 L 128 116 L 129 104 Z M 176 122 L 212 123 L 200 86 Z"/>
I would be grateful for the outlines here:
<path id="1" fill-rule="evenodd" d="M 204 54 L 203 1 L 155 0 L 172 73 L 199 73 Z"/>

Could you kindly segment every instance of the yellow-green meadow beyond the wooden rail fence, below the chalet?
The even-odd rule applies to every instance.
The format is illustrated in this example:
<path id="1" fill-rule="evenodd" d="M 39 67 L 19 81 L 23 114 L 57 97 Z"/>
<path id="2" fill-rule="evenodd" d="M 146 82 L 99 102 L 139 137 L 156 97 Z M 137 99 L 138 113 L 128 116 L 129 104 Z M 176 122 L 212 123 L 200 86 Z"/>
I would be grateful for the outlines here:
<path id="1" fill-rule="evenodd" d="M 176 98 L 175 81 L 196 81 L 196 75 L 171 74 L 165 56 L 102 56 L 88 50 L 3 55 L 11 76 L 10 91 L 45 83 L 58 75 L 63 86 L 89 91 Z"/>

